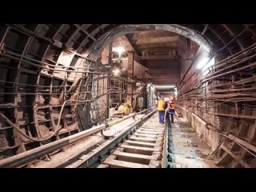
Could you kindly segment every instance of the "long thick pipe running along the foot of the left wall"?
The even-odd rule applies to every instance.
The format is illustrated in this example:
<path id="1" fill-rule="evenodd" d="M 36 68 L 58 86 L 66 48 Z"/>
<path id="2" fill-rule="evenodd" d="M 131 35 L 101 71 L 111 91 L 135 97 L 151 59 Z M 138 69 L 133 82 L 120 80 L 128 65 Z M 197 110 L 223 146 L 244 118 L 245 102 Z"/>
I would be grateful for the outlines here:
<path id="1" fill-rule="evenodd" d="M 79 139 L 86 138 L 87 136 L 90 136 L 91 134 L 95 134 L 98 131 L 104 130 L 109 126 L 113 126 L 114 124 L 118 122 L 122 122 L 126 120 L 127 118 L 133 118 L 134 116 L 142 113 L 146 113 L 148 110 L 142 110 L 141 112 L 137 114 L 130 115 L 126 118 L 119 119 L 118 121 L 106 123 L 104 125 L 95 126 L 91 128 L 90 130 L 83 130 L 82 132 L 78 134 L 71 135 L 67 138 L 62 138 L 54 142 L 50 142 L 44 146 L 39 146 L 38 148 L 35 148 L 33 150 L 28 150 L 26 152 L 23 152 L 21 154 L 14 155 L 10 158 L 5 158 L 0 161 L 0 168 L 15 168 L 17 166 L 22 166 L 28 162 L 33 161 L 34 159 L 40 158 L 46 154 L 50 154 L 54 150 L 59 150 L 64 146 L 67 146 L 71 143 L 77 142 Z"/>

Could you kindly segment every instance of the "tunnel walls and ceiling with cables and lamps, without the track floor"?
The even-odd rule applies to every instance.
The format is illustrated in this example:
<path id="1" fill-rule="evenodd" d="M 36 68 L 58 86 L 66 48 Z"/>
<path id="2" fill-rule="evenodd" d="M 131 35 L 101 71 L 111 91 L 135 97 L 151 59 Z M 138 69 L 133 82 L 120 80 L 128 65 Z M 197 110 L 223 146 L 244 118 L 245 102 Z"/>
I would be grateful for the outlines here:
<path id="1" fill-rule="evenodd" d="M 255 42 L 255 24 L 1 24 L 0 162 L 163 97 L 218 166 L 256 167 Z"/>

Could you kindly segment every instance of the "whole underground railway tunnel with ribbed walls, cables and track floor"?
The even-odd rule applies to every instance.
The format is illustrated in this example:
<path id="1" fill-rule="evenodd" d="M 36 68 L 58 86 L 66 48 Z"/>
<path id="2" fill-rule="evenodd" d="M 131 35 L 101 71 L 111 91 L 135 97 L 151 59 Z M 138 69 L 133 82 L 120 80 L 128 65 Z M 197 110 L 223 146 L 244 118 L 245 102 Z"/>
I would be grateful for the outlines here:
<path id="1" fill-rule="evenodd" d="M 255 168 L 255 42 L 255 24 L 1 24 L 0 167 Z"/>

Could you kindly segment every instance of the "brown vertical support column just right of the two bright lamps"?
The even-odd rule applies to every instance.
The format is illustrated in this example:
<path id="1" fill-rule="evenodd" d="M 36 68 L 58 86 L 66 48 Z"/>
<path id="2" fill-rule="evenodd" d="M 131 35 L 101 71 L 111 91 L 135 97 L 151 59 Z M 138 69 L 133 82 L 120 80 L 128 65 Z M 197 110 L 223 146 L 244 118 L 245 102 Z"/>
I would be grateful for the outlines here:
<path id="1" fill-rule="evenodd" d="M 128 53 L 128 76 L 129 76 L 128 81 L 133 80 L 133 78 L 134 78 L 134 52 Z M 128 83 L 127 102 L 129 102 L 131 106 L 133 106 L 133 95 L 134 95 L 133 84 Z"/>

